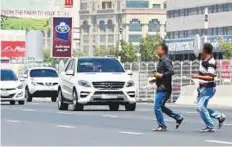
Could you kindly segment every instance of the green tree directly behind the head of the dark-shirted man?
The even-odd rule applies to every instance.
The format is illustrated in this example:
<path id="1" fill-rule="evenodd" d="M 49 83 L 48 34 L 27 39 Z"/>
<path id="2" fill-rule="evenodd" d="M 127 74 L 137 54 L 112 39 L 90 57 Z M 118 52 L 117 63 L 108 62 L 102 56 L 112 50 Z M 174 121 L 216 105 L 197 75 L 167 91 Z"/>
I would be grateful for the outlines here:
<path id="1" fill-rule="evenodd" d="M 162 43 L 163 39 L 160 35 L 149 36 L 147 35 L 140 41 L 140 53 L 142 61 L 153 61 L 157 57 L 154 55 L 155 45 Z"/>

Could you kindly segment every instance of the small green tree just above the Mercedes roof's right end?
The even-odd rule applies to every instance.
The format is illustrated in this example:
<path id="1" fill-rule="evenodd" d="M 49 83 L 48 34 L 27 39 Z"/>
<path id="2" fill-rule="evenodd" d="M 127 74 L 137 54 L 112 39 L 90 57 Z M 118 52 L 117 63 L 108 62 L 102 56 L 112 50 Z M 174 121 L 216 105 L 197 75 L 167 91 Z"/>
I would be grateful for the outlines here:
<path id="1" fill-rule="evenodd" d="M 122 41 L 121 61 L 133 62 L 136 59 L 135 49 L 131 42 Z"/>

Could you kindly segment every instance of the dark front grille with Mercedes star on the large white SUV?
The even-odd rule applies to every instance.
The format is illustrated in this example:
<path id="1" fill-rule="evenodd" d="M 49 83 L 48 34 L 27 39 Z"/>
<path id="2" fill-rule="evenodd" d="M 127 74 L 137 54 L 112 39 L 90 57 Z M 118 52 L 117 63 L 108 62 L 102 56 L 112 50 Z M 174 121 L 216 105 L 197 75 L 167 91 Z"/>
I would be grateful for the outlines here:
<path id="1" fill-rule="evenodd" d="M 125 82 L 93 82 L 93 86 L 100 90 L 117 90 L 123 88 Z"/>

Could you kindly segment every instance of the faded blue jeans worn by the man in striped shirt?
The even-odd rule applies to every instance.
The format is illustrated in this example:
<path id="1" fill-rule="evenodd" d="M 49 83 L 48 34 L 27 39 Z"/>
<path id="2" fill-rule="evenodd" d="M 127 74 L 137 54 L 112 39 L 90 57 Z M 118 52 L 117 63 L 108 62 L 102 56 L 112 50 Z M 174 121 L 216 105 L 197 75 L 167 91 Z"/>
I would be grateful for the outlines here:
<path id="1" fill-rule="evenodd" d="M 215 94 L 215 88 L 200 88 L 197 97 L 197 111 L 200 113 L 203 122 L 207 128 L 214 129 L 212 118 L 219 119 L 222 114 L 218 111 L 208 109 L 208 102 Z"/>

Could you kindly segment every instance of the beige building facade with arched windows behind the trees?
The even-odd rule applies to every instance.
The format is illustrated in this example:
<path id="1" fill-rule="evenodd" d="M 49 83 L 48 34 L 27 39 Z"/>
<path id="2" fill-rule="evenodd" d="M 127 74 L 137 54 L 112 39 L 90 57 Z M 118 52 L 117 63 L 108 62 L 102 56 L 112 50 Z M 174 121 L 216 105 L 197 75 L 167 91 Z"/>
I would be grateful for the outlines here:
<path id="1" fill-rule="evenodd" d="M 139 49 L 145 35 L 165 36 L 166 0 L 81 0 L 81 51 L 93 55 L 96 48 L 116 47 L 122 39 Z"/>

